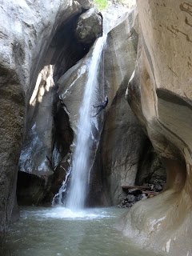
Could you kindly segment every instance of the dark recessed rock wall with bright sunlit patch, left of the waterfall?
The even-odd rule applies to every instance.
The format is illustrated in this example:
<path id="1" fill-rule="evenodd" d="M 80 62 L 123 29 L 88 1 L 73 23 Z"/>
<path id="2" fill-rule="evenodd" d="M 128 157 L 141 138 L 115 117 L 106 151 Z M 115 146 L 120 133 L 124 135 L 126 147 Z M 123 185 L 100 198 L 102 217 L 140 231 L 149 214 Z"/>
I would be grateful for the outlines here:
<path id="1" fill-rule="evenodd" d="M 54 167 L 66 155 L 73 140 L 73 131 L 67 114 L 59 105 L 55 84 L 87 52 L 88 48 L 74 36 L 77 19 L 77 15 L 70 18 L 58 29 L 46 51 L 46 66 L 38 74 L 27 110 L 19 170 L 38 175 L 53 174 Z"/>

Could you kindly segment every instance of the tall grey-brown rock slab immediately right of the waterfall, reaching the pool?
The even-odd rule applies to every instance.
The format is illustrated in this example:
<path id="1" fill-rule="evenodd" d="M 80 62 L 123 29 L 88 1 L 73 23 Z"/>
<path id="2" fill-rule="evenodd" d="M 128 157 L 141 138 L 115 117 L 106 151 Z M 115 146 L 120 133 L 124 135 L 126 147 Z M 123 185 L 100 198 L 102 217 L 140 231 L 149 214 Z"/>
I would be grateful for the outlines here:
<path id="1" fill-rule="evenodd" d="M 138 12 L 134 9 L 119 15 L 118 24 L 106 41 L 105 79 L 110 108 L 90 174 L 87 204 L 91 206 L 117 205 L 125 196 L 122 186 L 135 182 L 146 135 L 127 104 L 125 93 L 134 71 L 137 46 Z"/>

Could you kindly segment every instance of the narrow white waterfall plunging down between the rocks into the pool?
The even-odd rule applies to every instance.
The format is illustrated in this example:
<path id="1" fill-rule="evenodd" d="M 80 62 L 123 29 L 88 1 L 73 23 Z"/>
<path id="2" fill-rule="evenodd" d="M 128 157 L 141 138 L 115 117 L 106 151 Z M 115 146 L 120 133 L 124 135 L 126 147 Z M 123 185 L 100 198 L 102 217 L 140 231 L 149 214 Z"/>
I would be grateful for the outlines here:
<path id="1" fill-rule="evenodd" d="M 90 171 L 90 145 L 91 140 L 93 139 L 91 138 L 90 109 L 93 104 L 92 99 L 94 97 L 95 86 L 98 86 L 98 64 L 105 42 L 106 35 L 103 35 L 102 38 L 98 38 L 94 46 L 88 69 L 82 106 L 79 110 L 80 118 L 78 122 L 77 142 L 72 162 L 70 191 L 66 200 L 66 207 L 71 210 L 81 210 L 85 203 L 87 180 Z"/>

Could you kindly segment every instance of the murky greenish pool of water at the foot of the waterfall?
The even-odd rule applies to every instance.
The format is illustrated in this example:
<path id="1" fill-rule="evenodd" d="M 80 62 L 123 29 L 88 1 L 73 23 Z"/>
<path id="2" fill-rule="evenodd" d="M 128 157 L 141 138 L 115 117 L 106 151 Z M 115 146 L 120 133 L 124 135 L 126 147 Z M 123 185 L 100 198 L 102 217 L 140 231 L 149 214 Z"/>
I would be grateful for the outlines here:
<path id="1" fill-rule="evenodd" d="M 64 207 L 25 207 L 10 227 L 3 256 L 154 256 L 114 230 L 125 212 L 101 208 L 72 212 Z"/>

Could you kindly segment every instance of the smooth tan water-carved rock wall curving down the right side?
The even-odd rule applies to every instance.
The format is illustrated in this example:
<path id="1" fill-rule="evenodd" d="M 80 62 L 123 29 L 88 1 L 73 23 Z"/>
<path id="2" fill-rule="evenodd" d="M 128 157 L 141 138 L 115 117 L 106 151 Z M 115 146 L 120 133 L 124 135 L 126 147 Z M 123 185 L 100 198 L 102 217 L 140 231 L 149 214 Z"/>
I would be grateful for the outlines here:
<path id="1" fill-rule="evenodd" d="M 167 181 L 162 194 L 136 203 L 117 224 L 142 246 L 178 256 L 192 255 L 191 8 L 181 0 L 138 1 L 140 46 L 129 102 L 166 165 Z"/>

